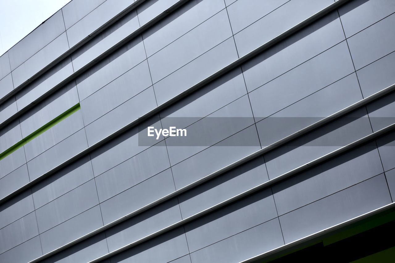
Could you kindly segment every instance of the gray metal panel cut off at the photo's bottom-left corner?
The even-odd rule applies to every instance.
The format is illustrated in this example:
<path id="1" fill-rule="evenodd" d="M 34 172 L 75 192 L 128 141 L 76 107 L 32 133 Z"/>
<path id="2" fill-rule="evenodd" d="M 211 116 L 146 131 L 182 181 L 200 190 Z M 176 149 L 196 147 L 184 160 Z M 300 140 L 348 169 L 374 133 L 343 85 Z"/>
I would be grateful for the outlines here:
<path id="1" fill-rule="evenodd" d="M 13 249 L 0 254 L 0 261 L 26 263 L 40 257 L 42 254 L 40 237 L 36 236 Z"/>

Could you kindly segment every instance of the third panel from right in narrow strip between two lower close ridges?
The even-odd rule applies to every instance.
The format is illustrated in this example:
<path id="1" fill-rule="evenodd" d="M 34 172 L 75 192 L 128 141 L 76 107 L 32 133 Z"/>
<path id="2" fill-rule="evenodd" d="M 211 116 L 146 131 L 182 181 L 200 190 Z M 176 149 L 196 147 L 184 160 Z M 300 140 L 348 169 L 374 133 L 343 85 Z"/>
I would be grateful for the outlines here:
<path id="1" fill-rule="evenodd" d="M 179 195 L 182 218 L 226 201 L 267 180 L 269 177 L 261 156 Z"/>

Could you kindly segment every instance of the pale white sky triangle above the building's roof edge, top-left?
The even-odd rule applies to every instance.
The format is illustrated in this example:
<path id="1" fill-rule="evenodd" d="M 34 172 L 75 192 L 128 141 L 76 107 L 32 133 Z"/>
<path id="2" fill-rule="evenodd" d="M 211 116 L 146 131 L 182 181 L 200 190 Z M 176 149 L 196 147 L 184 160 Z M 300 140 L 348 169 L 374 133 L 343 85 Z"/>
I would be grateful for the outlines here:
<path id="1" fill-rule="evenodd" d="M 70 0 L 0 0 L 0 56 Z"/>

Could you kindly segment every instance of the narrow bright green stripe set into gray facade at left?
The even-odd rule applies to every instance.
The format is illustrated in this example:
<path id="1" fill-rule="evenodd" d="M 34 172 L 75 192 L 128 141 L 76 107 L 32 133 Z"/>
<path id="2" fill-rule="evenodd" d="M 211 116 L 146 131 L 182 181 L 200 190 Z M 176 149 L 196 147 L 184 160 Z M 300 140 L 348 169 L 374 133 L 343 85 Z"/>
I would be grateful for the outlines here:
<path id="1" fill-rule="evenodd" d="M 78 104 L 74 105 L 73 107 L 71 107 L 70 109 L 68 109 L 67 111 L 65 111 L 64 113 L 62 113 L 61 115 L 59 115 L 56 118 L 54 118 L 53 120 L 51 120 L 50 122 L 48 122 L 47 124 L 44 124 L 38 130 L 30 133 L 25 138 L 23 138 L 21 141 L 15 143 L 13 146 L 9 147 L 4 152 L 0 153 L 0 160 L 6 158 L 11 153 L 15 152 L 16 150 L 21 148 L 26 143 L 32 141 L 34 138 L 38 137 L 39 135 L 41 135 L 45 131 L 51 129 L 53 126 L 55 126 L 56 124 L 58 124 L 59 122 L 61 122 L 65 118 L 67 118 L 68 116 L 72 115 L 76 111 L 79 111 L 80 109 L 81 109 L 81 106 L 78 103 Z"/>

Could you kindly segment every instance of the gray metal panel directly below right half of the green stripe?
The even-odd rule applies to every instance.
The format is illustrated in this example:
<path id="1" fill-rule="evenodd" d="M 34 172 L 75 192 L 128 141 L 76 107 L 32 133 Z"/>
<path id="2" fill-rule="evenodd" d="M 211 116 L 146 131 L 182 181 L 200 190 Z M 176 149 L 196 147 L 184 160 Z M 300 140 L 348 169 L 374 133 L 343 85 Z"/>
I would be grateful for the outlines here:
<path id="1" fill-rule="evenodd" d="M 73 113 L 49 130 L 24 145 L 26 160 L 30 161 L 71 134 L 84 128 L 81 111 Z"/>

